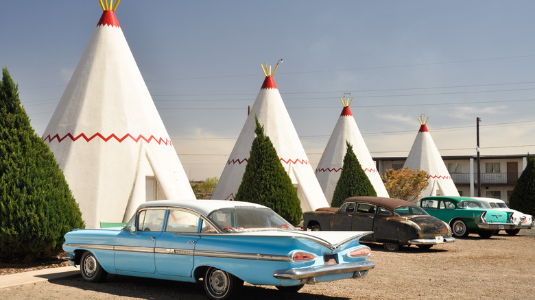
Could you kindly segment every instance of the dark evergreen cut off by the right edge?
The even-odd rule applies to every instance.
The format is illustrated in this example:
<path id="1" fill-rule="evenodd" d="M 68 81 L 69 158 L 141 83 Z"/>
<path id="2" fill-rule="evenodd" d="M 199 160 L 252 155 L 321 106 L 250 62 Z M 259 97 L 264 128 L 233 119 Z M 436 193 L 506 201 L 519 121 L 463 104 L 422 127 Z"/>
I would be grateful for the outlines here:
<path id="1" fill-rule="evenodd" d="M 527 166 L 509 197 L 509 207 L 535 216 L 535 158 L 527 153 Z"/>

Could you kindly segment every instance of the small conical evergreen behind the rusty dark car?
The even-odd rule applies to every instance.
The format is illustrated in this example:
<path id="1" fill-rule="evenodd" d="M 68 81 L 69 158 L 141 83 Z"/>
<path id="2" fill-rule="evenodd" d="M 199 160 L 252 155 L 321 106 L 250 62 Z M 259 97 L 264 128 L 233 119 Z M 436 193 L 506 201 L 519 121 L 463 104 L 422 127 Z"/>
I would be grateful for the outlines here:
<path id="1" fill-rule="evenodd" d="M 353 146 L 347 141 L 346 145 L 347 150 L 344 156 L 342 173 L 340 173 L 340 179 L 336 183 L 333 200 L 331 201 L 331 207 L 333 208 L 340 207 L 349 197 L 377 196 L 370 179 L 362 170 L 357 155 L 353 152 Z"/>

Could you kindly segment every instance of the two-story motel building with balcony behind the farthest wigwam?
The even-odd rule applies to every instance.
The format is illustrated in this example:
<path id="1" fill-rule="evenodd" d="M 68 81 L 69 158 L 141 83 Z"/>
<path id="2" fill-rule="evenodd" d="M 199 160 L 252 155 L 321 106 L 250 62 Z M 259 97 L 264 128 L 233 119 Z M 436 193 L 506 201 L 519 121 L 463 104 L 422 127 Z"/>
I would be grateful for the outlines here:
<path id="1" fill-rule="evenodd" d="M 403 168 L 406 158 L 373 158 L 377 170 L 383 174 L 386 170 Z M 449 174 L 453 179 L 459 195 L 466 197 L 492 197 L 508 201 L 509 196 L 527 165 L 527 155 L 480 155 L 479 176 L 477 184 L 477 156 L 442 156 Z"/>

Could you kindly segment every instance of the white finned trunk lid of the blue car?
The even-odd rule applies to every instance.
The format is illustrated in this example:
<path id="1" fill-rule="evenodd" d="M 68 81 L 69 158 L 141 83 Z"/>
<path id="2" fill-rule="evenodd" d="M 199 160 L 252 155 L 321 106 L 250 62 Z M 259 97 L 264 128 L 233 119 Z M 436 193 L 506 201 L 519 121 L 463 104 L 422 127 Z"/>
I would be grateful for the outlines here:
<path id="1" fill-rule="evenodd" d="M 305 232 L 300 230 L 273 230 L 273 231 L 258 231 L 258 232 L 240 232 L 231 233 L 229 235 L 240 236 L 273 236 L 273 237 L 288 237 L 288 238 L 306 238 L 318 242 L 329 249 L 337 249 L 348 242 L 359 240 L 366 234 L 373 232 Z"/>

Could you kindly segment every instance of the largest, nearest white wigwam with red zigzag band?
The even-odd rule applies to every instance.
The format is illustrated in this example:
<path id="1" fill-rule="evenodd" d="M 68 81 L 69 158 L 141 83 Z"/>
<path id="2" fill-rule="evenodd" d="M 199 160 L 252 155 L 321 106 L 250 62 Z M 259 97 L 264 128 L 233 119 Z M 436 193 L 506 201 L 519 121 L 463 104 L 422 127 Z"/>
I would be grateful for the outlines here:
<path id="1" fill-rule="evenodd" d="M 43 140 L 56 156 L 87 228 L 126 222 L 139 203 L 195 199 L 112 1 Z"/>

